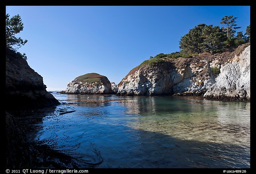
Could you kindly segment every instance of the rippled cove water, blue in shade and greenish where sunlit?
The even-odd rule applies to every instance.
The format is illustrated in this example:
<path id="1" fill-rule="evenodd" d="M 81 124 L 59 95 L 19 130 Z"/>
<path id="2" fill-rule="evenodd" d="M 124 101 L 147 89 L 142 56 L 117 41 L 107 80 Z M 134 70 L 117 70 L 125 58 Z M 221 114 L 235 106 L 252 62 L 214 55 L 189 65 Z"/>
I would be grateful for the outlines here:
<path id="1" fill-rule="evenodd" d="M 249 102 L 53 95 L 62 104 L 44 117 L 35 139 L 80 167 L 250 167 Z M 61 114 L 67 111 L 75 112 Z"/>

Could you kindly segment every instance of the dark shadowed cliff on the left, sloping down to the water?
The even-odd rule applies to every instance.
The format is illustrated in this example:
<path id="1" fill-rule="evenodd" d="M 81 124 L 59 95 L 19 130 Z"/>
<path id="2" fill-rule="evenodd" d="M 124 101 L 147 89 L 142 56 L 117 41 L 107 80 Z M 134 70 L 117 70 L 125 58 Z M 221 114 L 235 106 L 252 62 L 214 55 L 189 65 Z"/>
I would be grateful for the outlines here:
<path id="1" fill-rule="evenodd" d="M 6 108 L 35 108 L 60 104 L 46 91 L 43 77 L 14 51 L 6 49 L 5 59 Z"/>

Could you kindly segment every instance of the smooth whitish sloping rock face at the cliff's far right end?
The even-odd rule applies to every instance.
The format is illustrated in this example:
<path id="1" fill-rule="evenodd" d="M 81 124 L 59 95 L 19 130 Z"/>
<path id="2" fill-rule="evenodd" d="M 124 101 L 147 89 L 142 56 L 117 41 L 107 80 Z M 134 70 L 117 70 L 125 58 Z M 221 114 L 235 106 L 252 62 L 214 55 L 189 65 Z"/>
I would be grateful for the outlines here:
<path id="1" fill-rule="evenodd" d="M 239 55 L 220 68 L 216 83 L 204 94 L 206 98 L 250 100 L 250 50 L 248 46 Z"/>

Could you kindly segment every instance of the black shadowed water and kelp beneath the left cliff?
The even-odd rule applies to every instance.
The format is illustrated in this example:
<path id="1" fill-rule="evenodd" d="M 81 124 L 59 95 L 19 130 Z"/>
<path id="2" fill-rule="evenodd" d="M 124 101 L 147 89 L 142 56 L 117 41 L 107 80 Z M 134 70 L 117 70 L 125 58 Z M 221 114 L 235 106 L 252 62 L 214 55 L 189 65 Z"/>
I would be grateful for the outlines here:
<path id="1" fill-rule="evenodd" d="M 55 109 L 56 107 L 6 112 L 6 168 L 93 168 L 97 165 L 56 150 L 51 144 L 34 140 L 43 117 Z"/>

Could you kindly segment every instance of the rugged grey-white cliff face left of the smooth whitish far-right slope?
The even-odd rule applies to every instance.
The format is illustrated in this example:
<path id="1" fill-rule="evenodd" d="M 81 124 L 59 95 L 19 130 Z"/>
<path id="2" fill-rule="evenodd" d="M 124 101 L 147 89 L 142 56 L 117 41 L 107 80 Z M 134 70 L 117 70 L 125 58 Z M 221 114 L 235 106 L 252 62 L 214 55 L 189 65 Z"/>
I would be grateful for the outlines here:
<path id="1" fill-rule="evenodd" d="M 200 96 L 214 82 L 213 77 L 197 77 L 209 71 L 208 62 L 202 66 L 187 64 L 178 67 L 167 61 L 154 66 L 142 66 L 130 72 L 118 85 L 120 95 L 168 95 L 183 94 Z M 203 80 L 201 80 L 203 79 Z"/>

